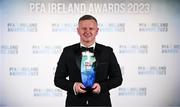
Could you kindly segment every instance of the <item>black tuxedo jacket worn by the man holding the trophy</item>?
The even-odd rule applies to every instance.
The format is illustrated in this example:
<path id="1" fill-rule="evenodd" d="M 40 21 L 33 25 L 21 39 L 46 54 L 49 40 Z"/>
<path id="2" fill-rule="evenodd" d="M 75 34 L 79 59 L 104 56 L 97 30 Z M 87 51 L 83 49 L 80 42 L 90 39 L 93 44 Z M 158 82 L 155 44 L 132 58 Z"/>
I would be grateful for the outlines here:
<path id="1" fill-rule="evenodd" d="M 96 43 L 94 55 L 96 58 L 95 82 L 100 84 L 101 92 L 75 95 L 74 83 L 82 82 L 80 43 L 63 49 L 57 64 L 54 83 L 57 87 L 67 91 L 66 106 L 111 106 L 109 90 L 122 83 L 120 66 L 110 47 Z"/>

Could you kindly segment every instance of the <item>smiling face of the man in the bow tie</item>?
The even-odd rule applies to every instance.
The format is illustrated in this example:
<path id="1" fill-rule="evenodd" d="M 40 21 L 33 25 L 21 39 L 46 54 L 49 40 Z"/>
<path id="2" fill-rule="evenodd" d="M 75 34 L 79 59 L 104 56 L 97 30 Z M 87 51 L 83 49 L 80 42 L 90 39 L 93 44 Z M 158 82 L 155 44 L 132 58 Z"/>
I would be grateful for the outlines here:
<path id="1" fill-rule="evenodd" d="M 94 20 L 82 20 L 79 22 L 79 26 L 77 28 L 80 40 L 85 44 L 92 44 L 95 42 L 98 30 L 99 28 Z"/>

